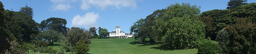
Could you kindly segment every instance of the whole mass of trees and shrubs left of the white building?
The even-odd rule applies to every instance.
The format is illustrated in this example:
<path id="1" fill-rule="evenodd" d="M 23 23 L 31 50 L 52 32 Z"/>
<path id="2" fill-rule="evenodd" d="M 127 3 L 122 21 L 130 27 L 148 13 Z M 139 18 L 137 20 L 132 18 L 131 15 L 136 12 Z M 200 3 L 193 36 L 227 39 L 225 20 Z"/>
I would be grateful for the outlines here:
<path id="1" fill-rule="evenodd" d="M 49 54 L 85 53 L 89 51 L 91 38 L 105 38 L 109 32 L 99 27 L 67 28 L 63 18 L 51 17 L 36 23 L 33 20 L 33 8 L 21 7 L 20 11 L 5 10 L 0 1 L 0 53 L 27 54 L 47 52 Z M 61 50 L 54 49 L 54 42 L 61 45 Z M 57 52 L 59 51 L 59 52 Z"/>

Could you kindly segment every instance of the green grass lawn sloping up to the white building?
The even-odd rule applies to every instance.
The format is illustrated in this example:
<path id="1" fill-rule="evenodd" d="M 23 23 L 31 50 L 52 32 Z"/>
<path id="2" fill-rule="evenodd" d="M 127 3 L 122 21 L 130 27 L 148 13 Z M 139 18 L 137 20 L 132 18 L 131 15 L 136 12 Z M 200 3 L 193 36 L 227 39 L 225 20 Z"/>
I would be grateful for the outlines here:
<path id="1" fill-rule="evenodd" d="M 212 42 L 217 43 L 217 41 Z M 161 45 L 139 44 L 134 38 L 128 38 L 127 40 L 126 38 L 92 39 L 89 52 L 93 54 L 196 54 L 198 52 L 197 49 L 167 49 L 168 47 Z M 60 44 L 54 42 L 53 48 L 60 51 Z M 29 54 L 33 54 L 33 50 Z"/>

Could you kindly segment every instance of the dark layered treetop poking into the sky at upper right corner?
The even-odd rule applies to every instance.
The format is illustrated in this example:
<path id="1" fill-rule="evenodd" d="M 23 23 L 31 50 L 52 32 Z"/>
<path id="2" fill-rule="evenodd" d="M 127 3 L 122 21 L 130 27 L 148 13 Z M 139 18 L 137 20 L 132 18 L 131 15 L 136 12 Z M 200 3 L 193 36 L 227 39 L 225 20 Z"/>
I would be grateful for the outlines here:
<path id="1" fill-rule="evenodd" d="M 240 5 L 245 5 L 247 3 L 247 0 L 230 0 L 229 2 L 227 2 L 228 7 L 226 9 L 234 9 Z"/>

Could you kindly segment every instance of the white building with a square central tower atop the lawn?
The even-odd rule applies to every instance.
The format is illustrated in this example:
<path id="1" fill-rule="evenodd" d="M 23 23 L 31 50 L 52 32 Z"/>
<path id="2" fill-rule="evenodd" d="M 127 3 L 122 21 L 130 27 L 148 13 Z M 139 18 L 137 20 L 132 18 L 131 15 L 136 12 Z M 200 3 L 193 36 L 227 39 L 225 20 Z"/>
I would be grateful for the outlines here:
<path id="1" fill-rule="evenodd" d="M 118 25 L 116 26 L 116 31 L 113 30 L 112 32 L 109 33 L 109 37 L 128 38 L 132 36 L 133 36 L 133 33 L 129 34 L 129 33 L 120 31 L 120 27 Z"/>

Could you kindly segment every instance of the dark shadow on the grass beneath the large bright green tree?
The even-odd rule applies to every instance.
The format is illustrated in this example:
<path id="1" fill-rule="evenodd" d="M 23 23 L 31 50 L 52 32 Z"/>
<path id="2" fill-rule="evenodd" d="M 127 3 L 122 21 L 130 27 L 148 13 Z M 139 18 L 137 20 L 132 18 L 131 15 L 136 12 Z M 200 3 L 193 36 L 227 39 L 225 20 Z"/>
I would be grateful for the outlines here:
<path id="1" fill-rule="evenodd" d="M 160 49 L 164 51 L 180 50 L 180 49 L 175 49 L 174 47 L 169 46 L 168 44 L 162 44 L 162 45 L 159 45 L 158 47 L 151 47 L 151 49 Z"/>

